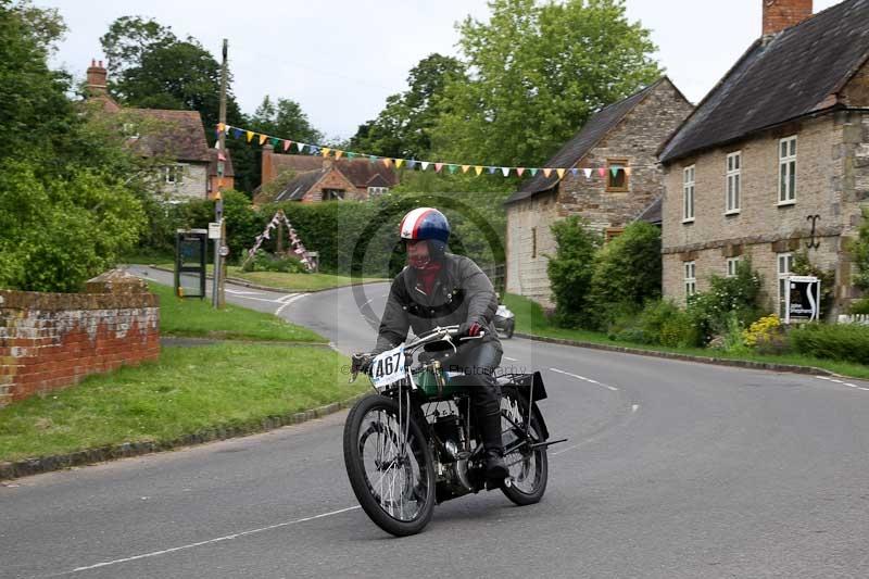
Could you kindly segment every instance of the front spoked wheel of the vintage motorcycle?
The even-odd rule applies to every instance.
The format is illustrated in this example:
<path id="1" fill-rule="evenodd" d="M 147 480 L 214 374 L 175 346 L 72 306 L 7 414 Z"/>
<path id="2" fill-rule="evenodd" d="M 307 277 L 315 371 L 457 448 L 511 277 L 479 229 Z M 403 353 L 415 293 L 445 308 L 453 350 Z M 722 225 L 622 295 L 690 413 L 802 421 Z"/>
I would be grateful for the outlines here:
<path id="1" fill-rule="evenodd" d="M 400 417 L 391 398 L 373 394 L 358 401 L 344 423 L 344 466 L 362 508 L 385 531 L 415 534 L 431 519 L 431 453 L 406 406 Z"/>

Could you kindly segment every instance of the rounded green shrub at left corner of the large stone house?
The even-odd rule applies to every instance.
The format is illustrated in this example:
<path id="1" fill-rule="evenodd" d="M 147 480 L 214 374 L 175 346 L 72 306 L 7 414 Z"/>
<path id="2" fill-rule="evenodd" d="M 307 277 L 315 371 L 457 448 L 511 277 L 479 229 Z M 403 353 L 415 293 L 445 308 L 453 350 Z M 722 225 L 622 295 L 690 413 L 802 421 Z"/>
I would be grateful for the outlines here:
<path id="1" fill-rule="evenodd" d="M 660 298 L 660 230 L 635 222 L 595 256 L 591 281 L 593 323 L 605 328 L 619 312 L 640 311 Z"/>

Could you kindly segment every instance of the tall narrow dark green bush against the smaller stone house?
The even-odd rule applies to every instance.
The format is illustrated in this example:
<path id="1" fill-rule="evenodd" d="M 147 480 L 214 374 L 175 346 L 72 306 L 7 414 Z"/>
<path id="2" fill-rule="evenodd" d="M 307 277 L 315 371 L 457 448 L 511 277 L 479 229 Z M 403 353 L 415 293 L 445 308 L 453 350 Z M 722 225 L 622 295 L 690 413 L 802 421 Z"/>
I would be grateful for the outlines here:
<path id="1" fill-rule="evenodd" d="M 553 224 L 552 232 L 557 248 L 546 270 L 555 298 L 555 322 L 566 327 L 588 325 L 594 255 L 601 237 L 577 215 Z"/>

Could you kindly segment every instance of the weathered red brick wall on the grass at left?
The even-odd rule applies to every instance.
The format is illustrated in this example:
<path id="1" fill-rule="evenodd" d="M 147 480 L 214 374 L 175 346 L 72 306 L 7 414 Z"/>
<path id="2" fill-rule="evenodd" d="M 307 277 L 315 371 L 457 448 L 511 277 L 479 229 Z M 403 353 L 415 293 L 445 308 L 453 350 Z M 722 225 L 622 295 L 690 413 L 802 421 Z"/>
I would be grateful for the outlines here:
<path id="1" fill-rule="evenodd" d="M 0 406 L 160 355 L 158 297 L 111 273 L 88 293 L 0 290 Z"/>

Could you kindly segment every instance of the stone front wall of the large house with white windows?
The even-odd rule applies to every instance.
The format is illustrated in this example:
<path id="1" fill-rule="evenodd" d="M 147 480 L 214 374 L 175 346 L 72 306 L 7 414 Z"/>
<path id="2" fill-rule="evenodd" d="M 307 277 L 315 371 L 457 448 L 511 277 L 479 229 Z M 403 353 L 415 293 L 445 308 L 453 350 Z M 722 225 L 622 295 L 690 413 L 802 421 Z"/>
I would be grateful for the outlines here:
<path id="1" fill-rule="evenodd" d="M 796 196 L 779 203 L 779 140 L 797 136 Z M 860 204 L 869 199 L 869 117 L 840 112 L 804 119 L 667 167 L 663 206 L 664 294 L 684 300 L 683 262 L 696 262 L 697 290 L 711 274 L 727 273 L 727 259 L 751 256 L 764 276 L 766 304 L 778 302 L 778 254 L 807 251 L 809 260 L 836 273 L 835 310 L 856 293 L 851 287 L 848 238 L 856 235 Z M 740 211 L 726 212 L 727 155 L 742 153 Z M 693 222 L 682 221 L 682 171 L 695 166 Z M 818 249 L 807 249 L 809 215 Z M 831 312 L 835 313 L 835 312 Z"/>

